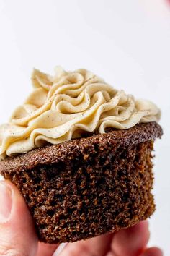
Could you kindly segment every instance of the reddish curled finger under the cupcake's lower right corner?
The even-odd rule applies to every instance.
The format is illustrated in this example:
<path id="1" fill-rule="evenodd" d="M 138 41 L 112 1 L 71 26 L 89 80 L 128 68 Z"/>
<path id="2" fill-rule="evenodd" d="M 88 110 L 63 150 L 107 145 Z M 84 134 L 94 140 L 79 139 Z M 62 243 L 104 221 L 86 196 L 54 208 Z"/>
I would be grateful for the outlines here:
<path id="1" fill-rule="evenodd" d="M 142 221 L 130 229 L 118 231 L 112 241 L 112 252 L 117 256 L 140 255 L 149 239 L 148 221 Z"/>

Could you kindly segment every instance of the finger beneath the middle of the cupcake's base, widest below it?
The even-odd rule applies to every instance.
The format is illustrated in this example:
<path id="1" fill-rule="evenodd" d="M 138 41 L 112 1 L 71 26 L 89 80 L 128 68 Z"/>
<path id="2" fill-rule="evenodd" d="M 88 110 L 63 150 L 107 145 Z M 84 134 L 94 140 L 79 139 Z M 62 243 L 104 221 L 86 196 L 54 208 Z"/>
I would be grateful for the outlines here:
<path id="1" fill-rule="evenodd" d="M 103 256 L 109 251 L 112 234 L 67 244 L 58 256 Z"/>

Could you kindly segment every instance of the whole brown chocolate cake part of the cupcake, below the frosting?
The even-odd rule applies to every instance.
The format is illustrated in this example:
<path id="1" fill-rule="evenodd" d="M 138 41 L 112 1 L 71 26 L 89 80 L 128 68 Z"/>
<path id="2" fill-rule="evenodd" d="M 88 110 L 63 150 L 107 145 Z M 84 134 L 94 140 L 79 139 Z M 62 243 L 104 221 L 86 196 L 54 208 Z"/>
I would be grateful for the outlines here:
<path id="1" fill-rule="evenodd" d="M 0 173 L 24 197 L 40 241 L 75 242 L 133 226 L 155 210 L 155 121 L 108 128 L 6 157 Z"/>

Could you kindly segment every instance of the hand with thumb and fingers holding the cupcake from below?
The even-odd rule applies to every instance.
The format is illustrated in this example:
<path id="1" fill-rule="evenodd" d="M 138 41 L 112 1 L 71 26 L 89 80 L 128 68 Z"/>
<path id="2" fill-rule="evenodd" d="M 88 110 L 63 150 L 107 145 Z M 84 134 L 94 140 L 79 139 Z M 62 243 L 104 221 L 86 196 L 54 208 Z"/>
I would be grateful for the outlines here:
<path id="1" fill-rule="evenodd" d="M 147 248 L 148 222 L 94 239 L 67 244 L 60 256 L 162 256 Z M 22 196 L 11 182 L 0 182 L 0 255 L 52 256 L 58 245 L 38 242 L 34 224 Z M 55 254 L 54 254 L 55 255 Z"/>

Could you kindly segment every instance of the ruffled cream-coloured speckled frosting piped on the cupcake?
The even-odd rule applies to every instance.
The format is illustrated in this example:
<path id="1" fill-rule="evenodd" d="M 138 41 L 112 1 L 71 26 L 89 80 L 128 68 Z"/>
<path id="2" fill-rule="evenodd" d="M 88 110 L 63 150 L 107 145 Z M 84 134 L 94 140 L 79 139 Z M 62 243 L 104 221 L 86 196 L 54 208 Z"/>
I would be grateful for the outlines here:
<path id="1" fill-rule="evenodd" d="M 1 158 L 81 137 L 83 132 L 128 129 L 160 118 L 155 104 L 135 100 L 85 69 L 66 72 L 58 67 L 54 76 L 35 69 L 32 85 L 24 104 L 0 127 Z"/>

